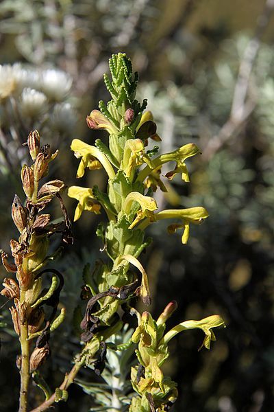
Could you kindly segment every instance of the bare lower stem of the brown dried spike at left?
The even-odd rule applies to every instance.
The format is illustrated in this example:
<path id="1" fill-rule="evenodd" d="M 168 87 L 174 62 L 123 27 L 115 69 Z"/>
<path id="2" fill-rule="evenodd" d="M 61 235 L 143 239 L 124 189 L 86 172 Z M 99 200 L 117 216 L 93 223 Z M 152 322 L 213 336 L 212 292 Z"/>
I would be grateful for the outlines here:
<path id="1" fill-rule="evenodd" d="M 21 302 L 25 299 L 25 292 L 21 291 Z M 19 412 L 27 412 L 27 390 L 29 387 L 29 341 L 27 320 L 21 324 L 20 329 L 20 344 L 21 344 L 21 388 L 19 400 Z"/>

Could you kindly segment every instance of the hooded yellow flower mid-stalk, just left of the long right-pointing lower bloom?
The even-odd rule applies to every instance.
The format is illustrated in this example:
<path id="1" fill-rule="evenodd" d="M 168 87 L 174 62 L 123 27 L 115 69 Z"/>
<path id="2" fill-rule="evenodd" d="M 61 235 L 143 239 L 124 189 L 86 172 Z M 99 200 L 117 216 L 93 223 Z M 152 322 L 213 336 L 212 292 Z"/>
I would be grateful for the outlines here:
<path id="1" fill-rule="evenodd" d="M 129 229 L 133 229 L 134 226 L 137 225 L 140 220 L 143 218 L 149 218 L 149 222 L 155 222 L 155 214 L 153 213 L 156 209 L 158 209 L 158 205 L 155 199 L 144 196 L 139 192 L 131 192 L 125 198 L 125 202 L 123 204 L 123 210 L 125 214 L 129 215 L 132 211 L 132 203 L 137 202 L 139 203 L 141 209 L 137 212 L 137 216 L 129 226 Z"/>

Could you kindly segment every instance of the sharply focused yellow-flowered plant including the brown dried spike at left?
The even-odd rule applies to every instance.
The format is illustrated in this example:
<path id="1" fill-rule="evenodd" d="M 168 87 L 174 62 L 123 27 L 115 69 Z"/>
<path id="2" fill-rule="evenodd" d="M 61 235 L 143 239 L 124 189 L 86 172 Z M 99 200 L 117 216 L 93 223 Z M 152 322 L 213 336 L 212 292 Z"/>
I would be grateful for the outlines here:
<path id="1" fill-rule="evenodd" d="M 77 178 L 82 178 L 86 169 L 105 170 L 108 176 L 108 188 L 102 192 L 99 187 L 69 187 L 69 196 L 77 200 L 74 220 L 84 211 L 95 214 L 104 213 L 107 222 L 101 223 L 97 236 L 103 242 L 102 251 L 105 260 L 98 260 L 93 273 L 84 271 L 85 290 L 88 298 L 86 310 L 80 327 L 81 341 L 84 344 L 81 354 L 76 356 L 75 365 L 64 378 L 64 382 L 55 393 L 51 394 L 40 377 L 38 368 L 49 354 L 49 332 L 52 332 L 64 318 L 64 308 L 55 317 L 62 288 L 62 275 L 53 269 L 51 286 L 47 293 L 42 293 L 41 271 L 47 260 L 49 236 L 62 233 L 65 242 L 71 241 L 70 222 L 60 197 L 64 188 L 62 181 L 51 181 L 38 188 L 40 179 L 47 174 L 49 162 L 57 155 L 51 155 L 48 146 L 40 148 L 37 132 L 29 135 L 27 144 L 34 160 L 31 167 L 23 166 L 23 189 L 27 196 L 25 206 L 16 197 L 12 205 L 12 217 L 21 236 L 12 240 L 14 264 L 7 262 L 7 255 L 2 255 L 8 271 L 16 272 L 18 283 L 14 279 L 5 279 L 2 295 L 14 299 L 12 319 L 14 329 L 21 341 L 21 406 L 20 411 L 27 411 L 27 390 L 29 377 L 45 392 L 45 402 L 34 411 L 45 411 L 53 402 L 66 400 L 66 389 L 71 385 L 82 365 L 91 366 L 101 374 L 108 359 L 108 351 L 126 351 L 136 348 L 138 365 L 132 366 L 131 381 L 134 395 L 112 391 L 112 397 L 105 403 L 101 398 L 102 408 L 108 410 L 166 411 L 177 398 L 176 384 L 162 372 L 162 365 L 169 356 L 169 341 L 177 333 L 199 328 L 206 337 L 203 345 L 210 348 L 215 340 L 212 328 L 224 325 L 219 315 L 212 315 L 201 321 L 184 321 L 165 333 L 166 321 L 177 304 L 166 306 L 157 321 L 147 311 L 140 314 L 132 307 L 134 299 L 140 297 L 145 305 L 151 303 L 149 275 L 140 262 L 140 255 L 150 244 L 146 238 L 146 229 L 158 220 L 171 220 L 169 233 L 182 229 L 182 243 L 188 242 L 190 225 L 199 225 L 208 218 L 208 211 L 201 206 L 187 209 L 166 209 L 158 211 L 153 192 L 166 192 L 161 180 L 161 168 L 165 163 L 175 162 L 175 168 L 165 177 L 173 179 L 175 174 L 182 175 L 182 180 L 189 181 L 186 159 L 199 153 L 196 144 L 186 144 L 181 148 L 158 155 L 158 146 L 148 149 L 149 139 L 160 141 L 156 125 L 150 112 L 144 112 L 147 101 L 140 104 L 136 96 L 138 73 L 132 72 L 132 64 L 119 53 L 110 58 L 110 73 L 105 74 L 105 85 L 110 92 L 108 104 L 99 102 L 99 110 L 93 110 L 87 117 L 87 124 L 92 130 L 103 129 L 109 134 L 108 144 L 101 139 L 94 145 L 74 139 L 71 149 L 80 159 Z M 57 225 L 50 223 L 50 216 L 40 214 L 51 199 L 60 199 L 64 212 L 64 222 Z M 133 270 L 129 270 L 133 268 Z M 45 319 L 42 305 L 53 306 L 53 313 Z M 138 325 L 135 331 L 127 332 L 128 341 L 116 344 L 114 336 L 123 333 L 121 310 L 134 314 Z M 37 338 L 36 347 L 30 355 L 30 343 Z M 96 391 L 96 389 L 95 389 Z M 114 396 L 114 394 L 115 396 Z M 99 400 L 100 402 L 100 400 Z M 130 406 L 129 406 L 130 403 Z M 127 409 L 125 409 L 127 408 Z M 102 410 L 103 410 L 102 409 Z"/>

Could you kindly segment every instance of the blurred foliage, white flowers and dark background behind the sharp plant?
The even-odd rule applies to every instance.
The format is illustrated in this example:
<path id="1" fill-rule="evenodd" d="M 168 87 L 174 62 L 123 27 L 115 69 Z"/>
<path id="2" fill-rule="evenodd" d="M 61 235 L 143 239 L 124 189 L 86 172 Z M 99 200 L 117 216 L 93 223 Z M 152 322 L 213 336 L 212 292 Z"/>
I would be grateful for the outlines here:
<path id="1" fill-rule="evenodd" d="M 92 143 L 99 137 L 85 118 L 98 100 L 108 99 L 102 75 L 114 52 L 126 52 L 140 73 L 139 97 L 149 100 L 160 150 L 195 141 L 203 151 L 188 162 L 190 183 L 174 179 L 166 183 L 169 197 L 161 192 L 156 198 L 161 208 L 201 204 L 210 218 L 192 229 L 184 247 L 161 222 L 152 225 L 153 244 L 142 256 L 153 315 L 176 299 L 171 326 L 212 313 L 221 314 L 228 326 L 217 332 L 210 352 L 197 352 L 199 332 L 173 340 L 166 373 L 178 382 L 174 411 L 269 412 L 273 407 L 273 7 L 273 0 L 0 3 L 2 249 L 8 251 L 10 238 L 17 236 L 10 205 L 14 192 L 22 194 L 18 176 L 29 131 L 38 128 L 44 143 L 60 148 L 53 176 L 75 184 L 71 139 Z M 90 187 L 105 186 L 101 172 L 85 179 Z M 64 201 L 73 216 L 75 204 L 66 195 Z M 66 278 L 62 301 L 68 319 L 51 340 L 51 361 L 43 371 L 53 387 L 79 350 L 73 311 L 82 305 L 84 265 L 99 257 L 100 218 L 84 214 L 74 225 L 75 244 L 56 263 Z M 0 410 L 15 411 L 18 347 L 8 304 L 1 308 L 0 328 Z M 84 370 L 81 379 L 95 376 Z M 92 398 L 76 385 L 69 393 L 69 403 L 56 410 L 92 407 Z M 39 396 L 34 390 L 33 398 Z"/>

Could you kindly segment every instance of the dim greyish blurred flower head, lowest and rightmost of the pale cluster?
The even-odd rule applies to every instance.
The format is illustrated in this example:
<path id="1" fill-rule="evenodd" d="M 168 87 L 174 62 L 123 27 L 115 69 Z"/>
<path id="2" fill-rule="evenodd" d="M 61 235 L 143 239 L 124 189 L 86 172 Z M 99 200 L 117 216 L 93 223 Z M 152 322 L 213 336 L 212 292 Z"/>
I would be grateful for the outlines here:
<path id="1" fill-rule="evenodd" d="M 71 135 L 76 124 L 76 113 L 69 103 L 56 104 L 51 117 L 52 128 L 59 133 Z"/>

